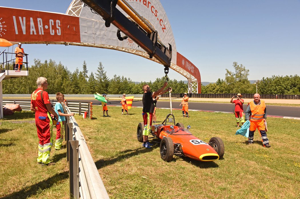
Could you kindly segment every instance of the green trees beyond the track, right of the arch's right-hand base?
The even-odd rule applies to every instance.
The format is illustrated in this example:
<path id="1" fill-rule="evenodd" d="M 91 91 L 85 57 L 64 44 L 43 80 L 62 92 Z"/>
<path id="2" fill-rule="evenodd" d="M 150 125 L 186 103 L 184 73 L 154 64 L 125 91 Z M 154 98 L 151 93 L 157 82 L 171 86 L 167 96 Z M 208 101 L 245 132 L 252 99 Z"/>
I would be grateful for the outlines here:
<path id="1" fill-rule="evenodd" d="M 218 79 L 216 83 L 202 86 L 202 93 L 256 93 L 256 84 L 248 80 L 249 70 L 237 62 L 232 64 L 234 72 L 226 69 L 225 80 Z M 272 76 L 262 78 L 257 83 L 259 94 L 300 94 L 300 76 Z"/>

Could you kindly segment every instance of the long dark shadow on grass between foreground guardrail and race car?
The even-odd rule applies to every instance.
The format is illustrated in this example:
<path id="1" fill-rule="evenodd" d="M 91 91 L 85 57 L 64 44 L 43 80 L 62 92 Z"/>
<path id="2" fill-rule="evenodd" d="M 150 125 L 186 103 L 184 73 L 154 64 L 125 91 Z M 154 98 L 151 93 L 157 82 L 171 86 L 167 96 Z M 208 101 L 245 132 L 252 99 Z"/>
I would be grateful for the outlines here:
<path id="1" fill-rule="evenodd" d="M 142 144 L 141 144 L 142 145 Z M 120 151 L 119 155 L 115 158 L 111 158 L 108 160 L 98 160 L 95 162 L 95 165 L 97 167 L 97 169 L 101 169 L 102 167 L 108 166 L 108 165 L 112 165 L 116 162 L 119 162 L 123 159 L 127 159 L 133 156 L 136 156 L 138 154 L 143 154 L 143 153 L 149 153 L 150 151 L 152 151 L 153 149 L 156 149 L 157 147 L 159 147 L 158 145 L 154 145 L 151 147 L 151 149 L 146 149 L 146 148 L 139 148 L 139 149 L 128 149 L 125 151 Z"/>

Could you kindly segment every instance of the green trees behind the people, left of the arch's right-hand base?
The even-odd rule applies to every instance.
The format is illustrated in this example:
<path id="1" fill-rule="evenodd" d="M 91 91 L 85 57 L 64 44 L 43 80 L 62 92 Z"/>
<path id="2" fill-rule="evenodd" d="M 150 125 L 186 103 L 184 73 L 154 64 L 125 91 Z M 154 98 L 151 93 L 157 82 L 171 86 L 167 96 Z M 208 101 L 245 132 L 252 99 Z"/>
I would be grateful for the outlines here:
<path id="1" fill-rule="evenodd" d="M 143 94 L 142 86 L 149 84 L 153 91 L 161 88 L 166 81 L 165 77 L 157 78 L 154 82 L 141 82 L 136 84 L 130 78 L 114 75 L 113 78 L 107 77 L 104 66 L 99 62 L 97 72 L 90 73 L 86 62 L 83 62 L 82 71 L 78 68 L 72 73 L 61 63 L 57 64 L 53 60 L 41 62 L 34 60 L 34 65 L 28 68 L 29 76 L 13 78 L 3 81 L 3 94 L 31 94 L 36 89 L 36 80 L 38 77 L 46 77 L 49 87 L 47 92 L 55 94 L 62 92 L 64 94 L 94 94 L 96 92 L 103 94 Z M 169 80 L 168 86 L 173 88 L 175 93 L 187 92 L 187 84 L 183 81 Z"/>

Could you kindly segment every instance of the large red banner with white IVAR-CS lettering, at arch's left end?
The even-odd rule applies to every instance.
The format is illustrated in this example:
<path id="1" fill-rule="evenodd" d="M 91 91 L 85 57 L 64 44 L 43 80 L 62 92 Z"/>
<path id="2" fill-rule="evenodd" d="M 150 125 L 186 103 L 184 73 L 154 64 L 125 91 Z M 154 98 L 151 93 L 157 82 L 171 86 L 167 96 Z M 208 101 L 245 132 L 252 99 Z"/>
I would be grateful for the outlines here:
<path id="1" fill-rule="evenodd" d="M 0 37 L 10 42 L 80 42 L 79 17 L 0 7 Z"/>

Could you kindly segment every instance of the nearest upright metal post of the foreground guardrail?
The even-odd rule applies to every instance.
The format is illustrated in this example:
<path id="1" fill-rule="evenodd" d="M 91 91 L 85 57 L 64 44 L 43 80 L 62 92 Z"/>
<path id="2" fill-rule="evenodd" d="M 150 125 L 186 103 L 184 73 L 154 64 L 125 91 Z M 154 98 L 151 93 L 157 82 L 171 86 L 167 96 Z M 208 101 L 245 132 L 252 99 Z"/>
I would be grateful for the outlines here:
<path id="1" fill-rule="evenodd" d="M 79 198 L 79 154 L 78 140 L 69 141 L 69 176 L 70 176 L 70 198 Z"/>

